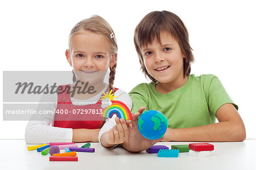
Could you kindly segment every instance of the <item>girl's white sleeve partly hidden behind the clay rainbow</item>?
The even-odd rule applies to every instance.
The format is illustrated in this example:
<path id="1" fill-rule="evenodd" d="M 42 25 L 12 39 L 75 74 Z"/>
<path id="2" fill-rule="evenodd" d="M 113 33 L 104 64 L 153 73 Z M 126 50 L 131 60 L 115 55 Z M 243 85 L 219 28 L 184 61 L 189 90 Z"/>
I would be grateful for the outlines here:
<path id="1" fill-rule="evenodd" d="M 117 90 L 117 91 L 115 91 L 114 96 L 117 96 L 117 98 L 115 98 L 115 100 L 122 101 L 122 103 L 125 103 L 129 109 L 131 109 L 133 107 L 133 101 L 131 101 L 130 96 L 126 92 L 124 92 L 122 90 Z M 98 141 L 100 142 L 100 144 L 101 144 L 101 135 L 104 134 L 106 131 L 109 131 L 111 128 L 113 128 L 116 125 L 115 117 L 116 116 L 114 114 L 112 118 L 108 118 L 106 120 L 105 124 L 102 126 L 101 130 L 99 131 Z M 115 145 L 111 148 L 114 148 L 116 146 L 117 145 Z"/>

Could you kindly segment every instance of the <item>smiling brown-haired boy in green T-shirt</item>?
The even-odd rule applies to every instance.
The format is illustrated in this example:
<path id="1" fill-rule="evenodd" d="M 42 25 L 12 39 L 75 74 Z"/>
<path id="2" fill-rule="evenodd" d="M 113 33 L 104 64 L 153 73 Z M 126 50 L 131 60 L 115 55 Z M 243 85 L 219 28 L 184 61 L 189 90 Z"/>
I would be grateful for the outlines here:
<path id="1" fill-rule="evenodd" d="M 131 112 L 138 112 L 133 114 L 133 127 L 128 129 L 129 139 L 123 147 L 138 152 L 158 141 L 245 140 L 238 107 L 217 76 L 190 74 L 193 54 L 179 16 L 169 11 L 150 12 L 137 25 L 134 44 L 141 69 L 152 82 L 139 84 L 129 93 Z M 137 119 L 144 109 L 156 109 L 168 118 L 163 138 L 150 141 L 139 134 Z"/>

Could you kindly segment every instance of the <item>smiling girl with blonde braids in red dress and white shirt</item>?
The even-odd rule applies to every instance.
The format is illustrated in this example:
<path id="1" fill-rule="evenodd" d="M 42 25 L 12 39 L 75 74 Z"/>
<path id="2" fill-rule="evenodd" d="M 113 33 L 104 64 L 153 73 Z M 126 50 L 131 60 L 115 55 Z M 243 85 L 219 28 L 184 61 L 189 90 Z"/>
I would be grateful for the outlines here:
<path id="1" fill-rule="evenodd" d="M 65 56 L 73 68 L 73 84 L 59 86 L 59 93 L 53 97 L 43 96 L 42 101 L 47 100 L 49 104 L 40 104 L 38 111 L 47 109 L 56 113 L 46 121 L 28 122 L 27 143 L 98 142 L 98 132 L 104 124 L 101 114 L 79 112 L 102 112 L 102 92 L 113 91 L 117 96 L 115 100 L 131 109 L 129 95 L 113 87 L 117 42 L 113 29 L 103 18 L 94 15 L 77 23 L 69 35 L 69 49 Z M 108 67 L 109 84 L 106 84 L 104 77 Z M 88 91 L 81 92 L 86 87 L 89 87 Z M 59 114 L 61 110 L 69 112 Z"/>

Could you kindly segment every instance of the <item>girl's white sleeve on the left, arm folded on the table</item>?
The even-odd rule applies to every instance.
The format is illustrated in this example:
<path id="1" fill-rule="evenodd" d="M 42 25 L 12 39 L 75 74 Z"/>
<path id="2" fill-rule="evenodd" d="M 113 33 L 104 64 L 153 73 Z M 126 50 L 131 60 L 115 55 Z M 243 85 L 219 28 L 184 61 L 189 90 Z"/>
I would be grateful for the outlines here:
<path id="1" fill-rule="evenodd" d="M 48 101 L 45 103 L 44 101 Z M 57 107 L 56 96 L 43 95 L 38 104 L 39 111 L 55 111 Z M 40 144 L 49 142 L 72 142 L 73 130 L 71 128 L 57 128 L 51 126 L 55 114 L 42 118 L 31 117 L 25 130 L 25 141 L 30 144 Z M 35 120 L 36 119 L 36 120 Z"/>

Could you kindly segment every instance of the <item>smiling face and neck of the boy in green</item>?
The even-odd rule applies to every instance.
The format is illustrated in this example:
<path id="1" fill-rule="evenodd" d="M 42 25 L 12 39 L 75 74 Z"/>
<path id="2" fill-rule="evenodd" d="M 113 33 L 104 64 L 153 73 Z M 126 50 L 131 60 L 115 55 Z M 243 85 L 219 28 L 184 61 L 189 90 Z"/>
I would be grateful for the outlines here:
<path id="1" fill-rule="evenodd" d="M 157 86 L 176 89 L 187 82 L 183 74 L 183 58 L 180 46 L 170 33 L 160 33 L 160 41 L 155 38 L 151 44 L 142 47 L 144 65 L 156 80 Z"/>

